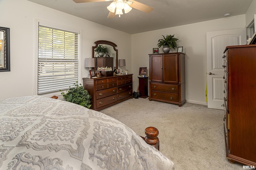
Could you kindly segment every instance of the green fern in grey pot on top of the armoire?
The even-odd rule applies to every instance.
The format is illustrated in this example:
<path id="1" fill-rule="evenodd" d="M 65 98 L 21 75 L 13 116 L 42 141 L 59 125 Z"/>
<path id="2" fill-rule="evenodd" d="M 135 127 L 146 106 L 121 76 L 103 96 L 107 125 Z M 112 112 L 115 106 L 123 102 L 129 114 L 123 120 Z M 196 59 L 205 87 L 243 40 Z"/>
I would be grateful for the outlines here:
<path id="1" fill-rule="evenodd" d="M 158 40 L 158 48 L 163 47 L 164 53 L 169 53 L 170 49 L 177 48 L 177 38 L 174 38 L 174 35 L 162 35 L 162 39 Z"/>

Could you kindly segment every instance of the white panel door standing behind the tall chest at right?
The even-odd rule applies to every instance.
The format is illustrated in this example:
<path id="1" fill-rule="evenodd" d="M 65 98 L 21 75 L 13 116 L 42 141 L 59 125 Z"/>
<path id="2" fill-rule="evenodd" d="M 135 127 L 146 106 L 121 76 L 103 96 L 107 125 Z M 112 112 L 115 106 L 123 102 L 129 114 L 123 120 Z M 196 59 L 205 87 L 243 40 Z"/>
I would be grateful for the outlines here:
<path id="1" fill-rule="evenodd" d="M 206 33 L 208 108 L 223 109 L 223 52 L 227 46 L 245 44 L 245 28 Z"/>

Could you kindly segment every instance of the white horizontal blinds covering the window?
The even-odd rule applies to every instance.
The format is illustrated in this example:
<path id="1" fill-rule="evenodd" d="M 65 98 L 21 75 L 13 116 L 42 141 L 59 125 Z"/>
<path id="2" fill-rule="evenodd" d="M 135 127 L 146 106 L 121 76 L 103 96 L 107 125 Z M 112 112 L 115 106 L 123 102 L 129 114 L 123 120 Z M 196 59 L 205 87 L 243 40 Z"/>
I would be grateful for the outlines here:
<path id="1" fill-rule="evenodd" d="M 78 81 L 78 33 L 38 27 L 38 94 L 66 90 Z"/>

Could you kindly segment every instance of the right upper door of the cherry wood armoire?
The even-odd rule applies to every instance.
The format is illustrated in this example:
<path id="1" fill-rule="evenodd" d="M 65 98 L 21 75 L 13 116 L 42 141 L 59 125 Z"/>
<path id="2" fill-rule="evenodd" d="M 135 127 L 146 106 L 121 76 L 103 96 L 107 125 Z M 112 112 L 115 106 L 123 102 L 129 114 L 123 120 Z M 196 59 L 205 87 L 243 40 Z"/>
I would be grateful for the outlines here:
<path id="1" fill-rule="evenodd" d="M 178 83 L 178 55 L 165 54 L 163 56 L 163 82 Z"/>

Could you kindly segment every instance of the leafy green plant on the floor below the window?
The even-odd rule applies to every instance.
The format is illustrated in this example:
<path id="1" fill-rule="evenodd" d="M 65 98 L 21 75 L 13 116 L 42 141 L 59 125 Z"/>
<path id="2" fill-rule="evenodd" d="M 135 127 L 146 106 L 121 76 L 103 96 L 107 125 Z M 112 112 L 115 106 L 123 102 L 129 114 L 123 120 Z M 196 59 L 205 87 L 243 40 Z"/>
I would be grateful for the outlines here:
<path id="1" fill-rule="evenodd" d="M 66 93 L 61 92 L 62 96 L 66 99 L 67 102 L 72 102 L 74 104 L 79 104 L 80 106 L 84 106 L 90 109 L 91 98 L 90 94 L 87 90 L 84 90 L 84 87 L 80 84 L 74 83 L 73 87 L 70 87 L 66 91 Z"/>

